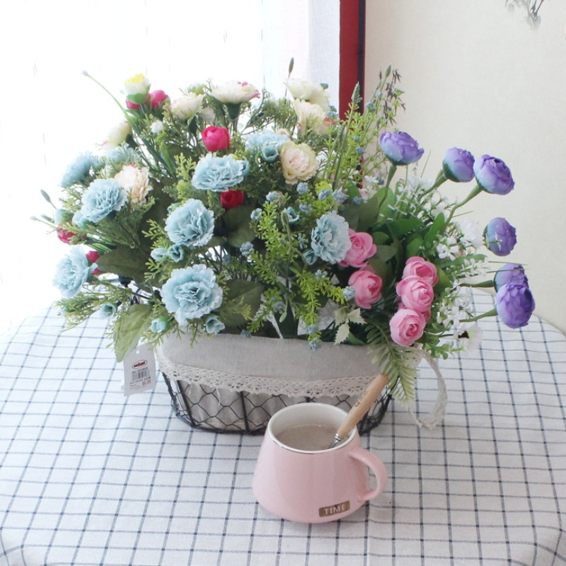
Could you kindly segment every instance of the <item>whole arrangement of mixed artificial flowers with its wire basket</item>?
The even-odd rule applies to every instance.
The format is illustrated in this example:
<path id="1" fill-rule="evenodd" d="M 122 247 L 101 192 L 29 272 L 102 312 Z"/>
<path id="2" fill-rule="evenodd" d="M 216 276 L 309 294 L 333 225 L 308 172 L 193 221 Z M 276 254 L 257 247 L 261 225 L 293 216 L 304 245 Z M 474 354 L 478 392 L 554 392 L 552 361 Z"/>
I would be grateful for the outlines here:
<path id="1" fill-rule="evenodd" d="M 351 404 L 349 395 L 381 371 L 389 378 L 383 410 L 391 396 L 414 398 L 415 354 L 447 357 L 475 341 L 480 318 L 499 316 L 517 328 L 534 308 L 521 265 L 487 276 L 485 253 L 507 255 L 515 229 L 497 218 L 482 231 L 460 210 L 480 192 L 513 189 L 503 161 L 452 148 L 436 180 L 414 178 L 409 166 L 424 150 L 395 131 L 403 108 L 396 71 L 380 74 L 365 104 L 355 91 L 340 117 L 327 86 L 293 79 L 291 69 L 282 98 L 238 82 L 199 83 L 171 98 L 134 76 L 125 83 L 125 105 L 115 98 L 124 122 L 69 166 L 59 204 L 44 192 L 54 212 L 43 221 L 71 246 L 54 278 L 68 324 L 110 318 L 118 361 L 140 340 L 154 345 L 175 407 L 183 415 L 188 408 L 197 426 L 206 417 L 190 416 L 191 388 L 208 416 L 202 398 L 221 405 L 212 428 L 243 420 L 236 429 L 246 430 L 250 395 L 264 395 L 249 401 L 262 412 L 255 429 L 281 403 L 325 392 L 261 391 L 236 380 L 226 402 L 215 393 L 219 383 L 183 383 L 182 360 L 167 352 L 190 357 L 193 347 L 206 347 L 214 363 L 225 337 L 236 340 L 221 354 L 230 362 L 243 342 L 261 339 L 269 359 L 282 339 L 292 340 L 323 374 L 335 364 L 323 366 L 333 348 L 352 364 L 366 363 L 370 352 L 374 370 L 362 371 L 357 389 L 346 378 L 331 393 Z M 439 192 L 446 181 L 473 185 L 451 202 Z M 473 312 L 470 287 L 478 285 L 495 286 L 490 312 Z M 168 362 L 181 368 L 174 379 L 163 370 Z M 233 377 L 229 367 L 221 374 Z M 234 416 L 218 417 L 226 408 Z"/>

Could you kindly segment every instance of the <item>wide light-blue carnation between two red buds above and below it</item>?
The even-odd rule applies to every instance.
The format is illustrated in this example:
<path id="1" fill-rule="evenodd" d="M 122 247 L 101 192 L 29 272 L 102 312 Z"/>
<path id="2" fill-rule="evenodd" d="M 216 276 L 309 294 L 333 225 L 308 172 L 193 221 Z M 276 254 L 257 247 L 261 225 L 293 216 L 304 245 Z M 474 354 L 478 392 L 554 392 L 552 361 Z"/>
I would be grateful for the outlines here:
<path id="1" fill-rule="evenodd" d="M 248 161 L 234 159 L 232 155 L 216 157 L 207 154 L 195 168 L 192 186 L 198 190 L 224 192 L 241 183 L 249 170 Z"/>

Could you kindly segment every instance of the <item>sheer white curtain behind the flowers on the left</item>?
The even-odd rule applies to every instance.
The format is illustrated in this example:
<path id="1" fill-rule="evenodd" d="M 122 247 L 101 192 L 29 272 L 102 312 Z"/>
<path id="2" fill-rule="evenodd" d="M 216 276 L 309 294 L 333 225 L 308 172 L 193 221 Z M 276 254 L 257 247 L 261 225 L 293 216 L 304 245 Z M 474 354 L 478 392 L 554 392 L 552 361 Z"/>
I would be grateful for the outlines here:
<path id="1" fill-rule="evenodd" d="M 337 105 L 339 0 L 20 0 L 0 23 L 0 332 L 58 298 L 67 248 L 30 216 L 57 204 L 62 172 L 120 120 L 139 72 L 171 96 L 195 81 L 249 81 L 282 95 L 327 82 Z"/>

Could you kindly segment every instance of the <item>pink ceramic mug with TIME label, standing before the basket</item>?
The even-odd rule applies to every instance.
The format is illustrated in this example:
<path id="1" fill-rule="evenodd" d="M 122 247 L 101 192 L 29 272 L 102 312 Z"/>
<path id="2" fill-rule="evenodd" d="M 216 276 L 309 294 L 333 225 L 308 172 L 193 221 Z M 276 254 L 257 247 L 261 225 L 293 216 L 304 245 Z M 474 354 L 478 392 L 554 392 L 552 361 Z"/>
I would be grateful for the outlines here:
<path id="1" fill-rule="evenodd" d="M 342 409 L 323 403 L 291 405 L 273 415 L 253 475 L 253 493 L 262 507 L 282 519 L 323 523 L 342 519 L 383 492 L 386 468 L 362 448 L 357 429 L 327 448 L 345 417 Z M 313 433 L 322 446 L 308 446 L 308 431 L 327 427 L 329 438 Z M 376 475 L 376 489 L 369 485 L 368 468 Z"/>

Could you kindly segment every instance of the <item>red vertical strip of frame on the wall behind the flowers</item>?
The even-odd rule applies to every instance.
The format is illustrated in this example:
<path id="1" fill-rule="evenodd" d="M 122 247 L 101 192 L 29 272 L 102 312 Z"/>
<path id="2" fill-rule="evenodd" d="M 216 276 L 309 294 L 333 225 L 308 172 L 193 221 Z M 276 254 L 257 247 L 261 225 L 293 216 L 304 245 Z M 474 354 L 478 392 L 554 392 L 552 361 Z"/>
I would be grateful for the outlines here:
<path id="1" fill-rule="evenodd" d="M 364 0 L 340 0 L 340 116 L 345 115 L 356 84 L 363 87 L 363 4 Z"/>

